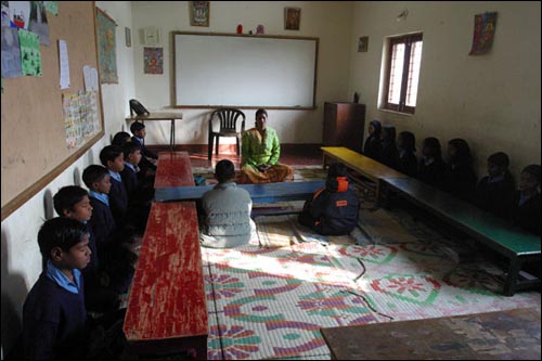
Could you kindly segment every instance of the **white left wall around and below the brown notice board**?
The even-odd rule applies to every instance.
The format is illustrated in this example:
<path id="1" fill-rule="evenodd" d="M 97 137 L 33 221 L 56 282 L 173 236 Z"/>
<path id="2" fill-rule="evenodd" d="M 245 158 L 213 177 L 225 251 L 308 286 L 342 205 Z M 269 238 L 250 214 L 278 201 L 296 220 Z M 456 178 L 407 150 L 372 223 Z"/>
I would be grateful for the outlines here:
<path id="1" fill-rule="evenodd" d="M 133 48 L 125 46 L 125 26 L 131 27 L 132 24 L 131 3 L 130 1 L 96 1 L 96 7 L 109 14 L 118 25 L 116 50 L 119 83 L 102 86 L 105 137 L 41 192 L 2 221 L 1 346 L 3 356 L 8 354 L 21 332 L 24 299 L 41 272 L 37 234 L 43 220 L 54 212 L 52 196 L 65 185 L 79 183 L 85 188 L 80 178 L 82 170 L 91 164 L 100 164 L 100 151 L 109 144 L 111 134 L 121 130 L 122 126 L 126 128 L 124 118 L 128 109 L 128 100 L 134 95 Z M 62 11 L 62 3 L 59 8 Z M 72 69 L 72 76 L 76 76 L 75 72 Z M 5 85 L 4 87 L 4 91 L 10 91 L 9 87 Z M 48 211 L 46 211 L 46 204 Z"/>

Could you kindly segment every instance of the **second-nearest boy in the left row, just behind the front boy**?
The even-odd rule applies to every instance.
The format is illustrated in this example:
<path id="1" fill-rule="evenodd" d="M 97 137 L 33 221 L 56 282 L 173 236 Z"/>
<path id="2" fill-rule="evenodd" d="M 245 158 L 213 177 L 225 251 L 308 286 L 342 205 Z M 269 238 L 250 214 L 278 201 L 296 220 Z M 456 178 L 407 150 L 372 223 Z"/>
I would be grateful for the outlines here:
<path id="1" fill-rule="evenodd" d="M 54 209 L 60 217 L 75 219 L 87 224 L 92 216 L 89 193 L 80 186 L 63 186 L 53 196 Z M 118 294 L 107 287 L 108 276 L 100 268 L 96 241 L 89 229 L 90 262 L 82 270 L 85 278 L 85 304 L 87 310 L 114 311 L 118 308 Z"/>

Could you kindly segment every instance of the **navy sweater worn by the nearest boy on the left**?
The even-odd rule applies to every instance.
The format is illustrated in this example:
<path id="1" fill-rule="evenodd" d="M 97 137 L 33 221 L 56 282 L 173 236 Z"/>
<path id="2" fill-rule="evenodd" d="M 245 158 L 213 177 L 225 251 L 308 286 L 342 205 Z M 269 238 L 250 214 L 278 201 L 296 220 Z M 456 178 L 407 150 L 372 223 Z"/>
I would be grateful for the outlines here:
<path id="1" fill-rule="evenodd" d="M 23 306 L 23 341 L 27 360 L 85 359 L 87 310 L 83 278 L 77 294 L 42 272 Z"/>

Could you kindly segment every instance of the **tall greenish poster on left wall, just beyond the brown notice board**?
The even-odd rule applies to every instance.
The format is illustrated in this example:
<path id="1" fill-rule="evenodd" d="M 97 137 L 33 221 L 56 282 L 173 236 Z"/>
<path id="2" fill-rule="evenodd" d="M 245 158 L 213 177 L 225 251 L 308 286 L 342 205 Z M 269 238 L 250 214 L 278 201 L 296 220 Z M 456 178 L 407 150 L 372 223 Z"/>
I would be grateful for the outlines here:
<path id="1" fill-rule="evenodd" d="M 96 8 L 98 63 L 102 83 L 118 83 L 116 26 L 113 18 Z"/>

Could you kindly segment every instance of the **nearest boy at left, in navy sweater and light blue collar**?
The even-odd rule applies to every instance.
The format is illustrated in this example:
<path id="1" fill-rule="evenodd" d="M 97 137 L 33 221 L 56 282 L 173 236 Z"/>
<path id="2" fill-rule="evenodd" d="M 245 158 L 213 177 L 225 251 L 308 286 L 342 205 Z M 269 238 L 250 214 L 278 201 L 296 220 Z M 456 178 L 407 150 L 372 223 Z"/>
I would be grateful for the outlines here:
<path id="1" fill-rule="evenodd" d="M 50 219 L 39 230 L 38 244 L 47 265 L 23 306 L 25 359 L 118 358 L 126 343 L 125 311 L 101 320 L 87 315 L 81 275 L 91 260 L 87 225 L 65 217 Z"/>

